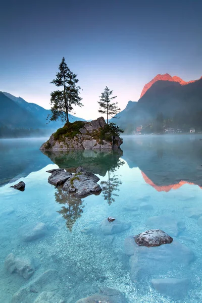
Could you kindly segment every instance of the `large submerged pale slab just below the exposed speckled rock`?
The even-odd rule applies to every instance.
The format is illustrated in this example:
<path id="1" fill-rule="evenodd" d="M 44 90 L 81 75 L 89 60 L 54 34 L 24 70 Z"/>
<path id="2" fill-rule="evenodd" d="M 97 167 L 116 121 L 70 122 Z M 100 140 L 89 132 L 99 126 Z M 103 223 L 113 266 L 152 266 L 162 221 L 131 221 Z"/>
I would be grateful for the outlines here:
<path id="1" fill-rule="evenodd" d="M 129 260 L 130 277 L 133 281 L 165 275 L 177 266 L 187 267 L 194 260 L 193 251 L 176 240 L 169 245 L 153 247 L 138 246 L 136 243 L 132 246 L 130 243 L 129 248 L 130 250 L 126 247 L 128 255 L 134 249 Z"/>

